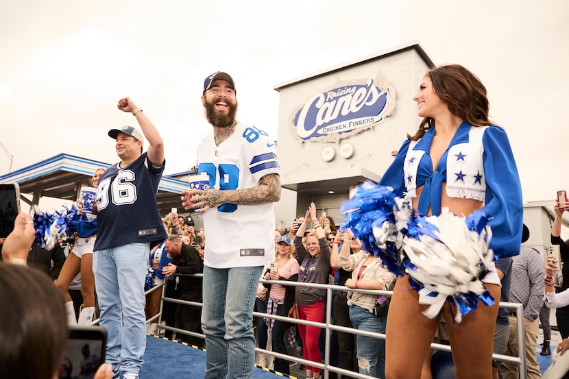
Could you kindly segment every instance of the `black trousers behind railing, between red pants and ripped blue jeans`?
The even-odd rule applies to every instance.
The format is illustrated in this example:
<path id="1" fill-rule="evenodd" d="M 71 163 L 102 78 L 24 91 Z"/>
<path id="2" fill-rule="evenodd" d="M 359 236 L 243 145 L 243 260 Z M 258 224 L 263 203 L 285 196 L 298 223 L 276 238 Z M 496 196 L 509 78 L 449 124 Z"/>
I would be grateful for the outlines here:
<path id="1" fill-rule="evenodd" d="M 353 328 L 350 320 L 350 307 L 348 306 L 348 293 L 338 291 L 335 299 L 335 324 Z M 351 333 L 338 332 L 338 350 L 340 367 L 350 371 L 358 371 L 356 360 L 356 336 Z"/>

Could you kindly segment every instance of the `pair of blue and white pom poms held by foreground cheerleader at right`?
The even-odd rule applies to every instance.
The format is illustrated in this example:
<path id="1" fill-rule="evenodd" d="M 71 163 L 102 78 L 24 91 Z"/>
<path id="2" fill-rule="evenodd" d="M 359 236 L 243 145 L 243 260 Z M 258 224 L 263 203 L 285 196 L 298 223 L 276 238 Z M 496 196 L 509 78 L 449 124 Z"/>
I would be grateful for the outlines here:
<path id="1" fill-rule="evenodd" d="M 367 252 L 396 275 L 409 275 L 419 303 L 428 305 L 426 317 L 436 317 L 447 299 L 459 310 L 457 322 L 479 300 L 494 304 L 481 281 L 494 260 L 489 219 L 482 212 L 465 219 L 446 209 L 437 217 L 420 217 L 391 188 L 371 182 L 357 188 L 341 212 L 343 228 L 350 228 Z"/>

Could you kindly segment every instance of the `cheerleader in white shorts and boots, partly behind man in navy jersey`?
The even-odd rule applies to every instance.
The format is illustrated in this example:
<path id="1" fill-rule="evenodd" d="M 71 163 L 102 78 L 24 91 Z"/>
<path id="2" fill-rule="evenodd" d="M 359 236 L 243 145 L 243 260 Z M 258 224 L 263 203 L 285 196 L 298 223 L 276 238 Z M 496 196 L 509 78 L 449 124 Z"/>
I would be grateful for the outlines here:
<path id="1" fill-rule="evenodd" d="M 105 172 L 105 169 L 96 169 L 91 178 L 91 186 L 97 188 L 99 178 Z M 81 208 L 82 204 L 78 202 L 77 208 Z M 65 263 L 59 274 L 57 287 L 63 293 L 65 298 L 65 309 L 67 313 L 67 322 L 69 325 L 88 326 L 93 322 L 95 317 L 95 276 L 93 275 L 93 246 L 97 236 L 97 219 L 94 215 L 86 215 L 85 220 L 73 221 L 73 225 L 77 230 L 75 245 L 71 247 L 71 253 L 67 256 Z M 69 284 L 75 276 L 81 273 L 81 295 L 83 297 L 83 305 L 79 313 L 79 319 L 75 319 L 75 308 L 73 308 L 73 300 L 69 295 Z"/>

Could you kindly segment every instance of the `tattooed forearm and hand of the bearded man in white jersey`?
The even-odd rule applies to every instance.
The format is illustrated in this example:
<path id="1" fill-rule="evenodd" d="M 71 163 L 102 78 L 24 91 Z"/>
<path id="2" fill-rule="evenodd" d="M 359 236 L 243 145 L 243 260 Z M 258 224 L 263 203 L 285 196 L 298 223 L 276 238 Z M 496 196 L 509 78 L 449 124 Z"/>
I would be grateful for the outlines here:
<path id="1" fill-rule="evenodd" d="M 221 204 L 263 204 L 280 200 L 280 177 L 276 173 L 263 176 L 258 186 L 237 190 L 205 191 L 191 190 L 182 192 L 182 206 L 185 210 L 204 207 L 202 212 L 209 208 L 216 208 Z"/>

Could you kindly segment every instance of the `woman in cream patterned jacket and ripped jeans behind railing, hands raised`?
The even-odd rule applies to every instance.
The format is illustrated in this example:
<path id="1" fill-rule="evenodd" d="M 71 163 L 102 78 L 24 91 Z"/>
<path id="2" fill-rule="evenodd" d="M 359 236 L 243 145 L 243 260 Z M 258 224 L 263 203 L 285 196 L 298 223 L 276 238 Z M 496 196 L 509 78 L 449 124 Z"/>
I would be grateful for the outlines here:
<path id="1" fill-rule="evenodd" d="M 346 280 L 350 289 L 380 289 L 387 290 L 394 282 L 394 275 L 384 267 L 380 258 L 361 249 L 361 243 L 354 239 L 350 230 L 346 231 L 346 239 L 356 245 L 356 252 L 350 254 L 348 243 L 342 245 L 339 260 L 341 267 L 352 272 L 352 278 Z M 338 243 L 335 243 L 337 250 Z M 359 248 L 357 248 L 359 247 Z M 334 255 L 334 250 L 332 250 Z M 354 328 L 368 332 L 385 333 L 387 315 L 375 315 L 374 307 L 379 302 L 383 304 L 387 299 L 384 296 L 369 295 L 365 293 L 348 292 L 348 306 L 350 306 L 350 320 Z M 356 337 L 356 351 L 358 353 L 358 367 L 360 374 L 385 378 L 385 341 L 375 337 Z"/>

